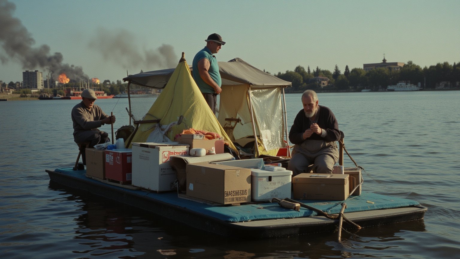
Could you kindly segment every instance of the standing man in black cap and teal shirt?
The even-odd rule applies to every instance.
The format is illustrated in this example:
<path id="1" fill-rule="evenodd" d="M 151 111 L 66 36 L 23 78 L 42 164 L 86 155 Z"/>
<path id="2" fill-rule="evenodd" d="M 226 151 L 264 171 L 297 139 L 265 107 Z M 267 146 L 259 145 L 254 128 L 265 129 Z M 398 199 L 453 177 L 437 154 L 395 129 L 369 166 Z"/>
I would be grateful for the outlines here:
<path id="1" fill-rule="evenodd" d="M 217 95 L 222 92 L 220 88 L 222 79 L 217 59 L 213 54 L 219 52 L 225 41 L 222 41 L 222 37 L 217 33 L 209 35 L 205 41 L 207 42 L 206 47 L 196 53 L 193 58 L 193 79 L 215 115 Z"/>

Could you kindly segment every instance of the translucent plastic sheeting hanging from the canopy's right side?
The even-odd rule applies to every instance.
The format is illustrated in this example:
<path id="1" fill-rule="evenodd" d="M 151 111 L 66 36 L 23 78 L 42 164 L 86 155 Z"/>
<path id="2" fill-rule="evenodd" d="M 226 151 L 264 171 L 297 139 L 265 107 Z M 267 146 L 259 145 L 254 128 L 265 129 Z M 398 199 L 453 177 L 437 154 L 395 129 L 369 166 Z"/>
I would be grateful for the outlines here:
<path id="1" fill-rule="evenodd" d="M 249 94 L 260 144 L 267 151 L 284 147 L 281 88 L 255 89 Z"/>

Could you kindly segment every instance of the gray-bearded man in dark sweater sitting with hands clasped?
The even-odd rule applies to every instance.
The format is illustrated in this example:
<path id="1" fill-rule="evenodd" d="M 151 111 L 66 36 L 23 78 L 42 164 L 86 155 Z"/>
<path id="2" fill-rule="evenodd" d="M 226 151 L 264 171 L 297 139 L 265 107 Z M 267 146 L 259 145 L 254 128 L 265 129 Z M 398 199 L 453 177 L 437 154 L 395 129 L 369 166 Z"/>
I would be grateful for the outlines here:
<path id="1" fill-rule="evenodd" d="M 315 91 L 306 90 L 302 104 L 304 108 L 296 115 L 289 131 L 289 140 L 295 146 L 288 170 L 295 176 L 313 164 L 316 173 L 332 173 L 339 159 L 335 142 L 340 139 L 339 124 L 328 107 L 318 105 Z"/>

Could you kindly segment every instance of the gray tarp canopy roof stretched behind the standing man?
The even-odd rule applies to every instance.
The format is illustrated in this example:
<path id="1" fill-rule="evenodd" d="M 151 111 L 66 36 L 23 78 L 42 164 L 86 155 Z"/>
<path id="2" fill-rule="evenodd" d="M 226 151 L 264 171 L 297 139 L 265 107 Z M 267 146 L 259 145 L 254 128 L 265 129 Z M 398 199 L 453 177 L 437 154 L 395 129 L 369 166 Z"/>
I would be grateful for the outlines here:
<path id="1" fill-rule="evenodd" d="M 248 84 L 259 87 L 290 87 L 292 84 L 261 71 L 240 58 L 232 59 L 229 62 L 219 61 L 218 63 L 222 86 Z M 192 66 L 190 66 L 190 70 L 193 70 Z M 147 87 L 164 88 L 173 71 L 174 68 L 142 72 L 129 75 L 123 78 L 123 81 Z"/>

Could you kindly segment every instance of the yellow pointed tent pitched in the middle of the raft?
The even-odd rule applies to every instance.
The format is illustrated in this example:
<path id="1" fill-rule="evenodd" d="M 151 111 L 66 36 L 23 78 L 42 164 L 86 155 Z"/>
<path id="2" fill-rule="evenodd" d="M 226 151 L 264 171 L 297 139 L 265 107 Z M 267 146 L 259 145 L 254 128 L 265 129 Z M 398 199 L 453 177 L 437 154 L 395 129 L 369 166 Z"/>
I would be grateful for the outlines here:
<path id="1" fill-rule="evenodd" d="M 155 132 L 166 133 L 164 136 L 173 141 L 175 135 L 193 128 L 218 133 L 224 137 L 230 148 L 237 152 L 236 147 L 203 98 L 184 58 L 180 60 L 165 88 L 141 122 L 158 119 L 159 123 L 140 123 L 132 140 L 127 140 L 129 147 L 132 146 L 132 142 L 147 142 Z"/>

